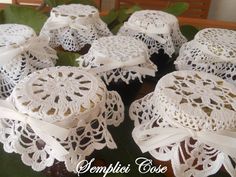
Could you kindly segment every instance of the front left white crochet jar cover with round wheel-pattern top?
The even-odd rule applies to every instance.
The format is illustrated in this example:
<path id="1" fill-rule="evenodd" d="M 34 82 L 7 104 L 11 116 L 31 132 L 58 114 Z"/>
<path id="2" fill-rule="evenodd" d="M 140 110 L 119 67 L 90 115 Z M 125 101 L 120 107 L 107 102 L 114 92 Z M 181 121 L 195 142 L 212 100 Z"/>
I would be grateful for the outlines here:
<path id="1" fill-rule="evenodd" d="M 107 91 L 99 78 L 75 67 L 34 72 L 15 87 L 10 99 L 0 103 L 0 110 L 11 105 L 13 114 L 27 117 L 24 122 L 10 113 L 0 115 L 0 141 L 5 151 L 21 154 L 22 161 L 36 171 L 52 166 L 57 159 L 75 172 L 77 164 L 94 150 L 116 148 L 107 125 L 118 126 L 124 119 L 118 93 Z M 40 124 L 45 126 L 37 127 Z M 57 138 L 54 144 L 43 137 L 57 133 L 64 139 Z M 55 155 L 59 147 L 61 152 L 66 150 L 64 156 Z"/>

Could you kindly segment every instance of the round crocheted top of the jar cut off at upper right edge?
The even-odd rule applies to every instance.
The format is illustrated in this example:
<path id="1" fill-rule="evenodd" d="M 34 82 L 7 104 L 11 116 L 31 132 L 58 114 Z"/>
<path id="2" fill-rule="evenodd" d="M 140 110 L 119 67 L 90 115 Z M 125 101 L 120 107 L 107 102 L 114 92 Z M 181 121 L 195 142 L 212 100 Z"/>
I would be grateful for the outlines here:
<path id="1" fill-rule="evenodd" d="M 236 63 L 236 32 L 233 30 L 206 28 L 199 31 L 195 38 L 200 50 L 218 57 L 221 61 Z"/>

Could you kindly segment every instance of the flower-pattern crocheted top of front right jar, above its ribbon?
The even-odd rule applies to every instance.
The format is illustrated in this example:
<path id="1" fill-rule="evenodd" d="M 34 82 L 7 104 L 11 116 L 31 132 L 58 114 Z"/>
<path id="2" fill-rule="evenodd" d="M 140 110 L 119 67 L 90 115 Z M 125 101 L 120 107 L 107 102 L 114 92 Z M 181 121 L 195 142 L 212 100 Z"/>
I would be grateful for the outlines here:
<path id="1" fill-rule="evenodd" d="M 195 131 L 236 128 L 236 89 L 212 74 L 167 74 L 157 83 L 153 97 L 154 109 L 173 126 Z"/>

